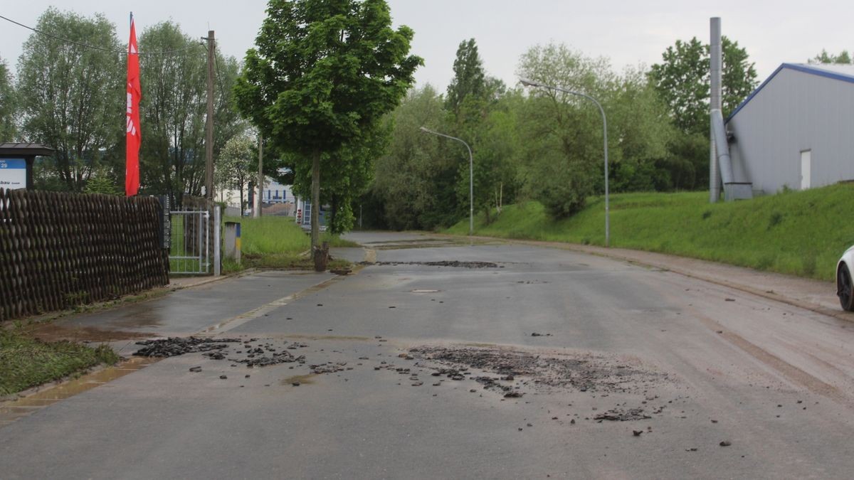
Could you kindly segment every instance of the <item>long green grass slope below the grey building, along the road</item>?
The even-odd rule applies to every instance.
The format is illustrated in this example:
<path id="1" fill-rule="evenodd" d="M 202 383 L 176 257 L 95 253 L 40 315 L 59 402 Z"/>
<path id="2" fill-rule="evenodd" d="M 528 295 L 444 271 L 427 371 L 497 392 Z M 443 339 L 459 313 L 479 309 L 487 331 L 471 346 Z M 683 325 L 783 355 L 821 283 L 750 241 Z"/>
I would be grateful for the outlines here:
<path id="1" fill-rule="evenodd" d="M 854 244 L 852 215 L 854 184 L 716 204 L 707 192 L 619 194 L 611 196 L 611 247 L 833 280 L 839 256 Z M 465 235 L 468 220 L 448 232 Z M 559 221 L 538 202 L 508 206 L 491 225 L 476 217 L 475 234 L 604 245 L 604 198 Z"/>

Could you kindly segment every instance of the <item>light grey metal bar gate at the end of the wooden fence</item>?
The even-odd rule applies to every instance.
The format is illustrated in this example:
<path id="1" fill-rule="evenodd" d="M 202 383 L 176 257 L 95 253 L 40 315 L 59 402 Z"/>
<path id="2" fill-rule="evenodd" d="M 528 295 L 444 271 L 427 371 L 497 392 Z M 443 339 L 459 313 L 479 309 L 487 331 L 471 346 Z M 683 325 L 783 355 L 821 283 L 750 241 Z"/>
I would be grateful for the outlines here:
<path id="1" fill-rule="evenodd" d="M 206 275 L 210 270 L 208 211 L 170 211 L 169 271 Z"/>

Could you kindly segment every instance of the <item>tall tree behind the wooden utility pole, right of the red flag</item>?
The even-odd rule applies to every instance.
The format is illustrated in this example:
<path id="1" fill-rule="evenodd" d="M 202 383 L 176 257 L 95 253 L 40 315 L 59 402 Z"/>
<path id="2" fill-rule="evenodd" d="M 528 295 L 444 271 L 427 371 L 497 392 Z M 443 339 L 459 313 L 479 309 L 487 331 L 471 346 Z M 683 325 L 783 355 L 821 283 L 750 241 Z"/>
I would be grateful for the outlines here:
<path id="1" fill-rule="evenodd" d="M 180 204 L 184 194 L 200 195 L 205 183 L 207 54 L 198 39 L 171 21 L 146 28 L 139 50 L 143 190 L 167 193 Z M 245 122 L 231 103 L 237 61 L 218 54 L 215 67 L 213 157 L 219 158 L 225 143 L 243 132 Z"/>

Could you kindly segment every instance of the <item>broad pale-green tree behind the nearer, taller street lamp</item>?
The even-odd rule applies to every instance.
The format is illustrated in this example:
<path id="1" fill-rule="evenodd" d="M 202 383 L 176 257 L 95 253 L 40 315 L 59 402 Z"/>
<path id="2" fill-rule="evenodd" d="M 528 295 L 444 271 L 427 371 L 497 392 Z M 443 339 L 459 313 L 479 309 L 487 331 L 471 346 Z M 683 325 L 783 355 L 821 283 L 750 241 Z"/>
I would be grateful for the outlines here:
<path id="1" fill-rule="evenodd" d="M 667 145 L 675 132 L 666 106 L 639 69 L 613 73 L 604 58 L 562 44 L 535 46 L 522 57 L 522 77 L 594 97 L 605 110 L 611 191 L 664 190 Z M 604 191 L 602 117 L 588 98 L 535 88 L 524 102 L 518 130 L 525 138 L 524 192 L 555 218 L 576 213 Z"/>

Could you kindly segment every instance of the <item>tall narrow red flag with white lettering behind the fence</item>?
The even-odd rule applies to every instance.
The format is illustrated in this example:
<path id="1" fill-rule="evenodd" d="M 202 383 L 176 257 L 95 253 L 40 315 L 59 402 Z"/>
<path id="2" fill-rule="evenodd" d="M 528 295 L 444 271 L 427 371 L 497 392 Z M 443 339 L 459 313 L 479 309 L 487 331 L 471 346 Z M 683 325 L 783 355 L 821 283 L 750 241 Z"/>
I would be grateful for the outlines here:
<path id="1" fill-rule="evenodd" d="M 139 128 L 139 98 L 142 96 L 143 91 L 139 86 L 137 28 L 133 25 L 133 14 L 131 14 L 131 40 L 127 44 L 126 196 L 137 195 L 139 191 L 139 144 L 143 139 Z"/>

